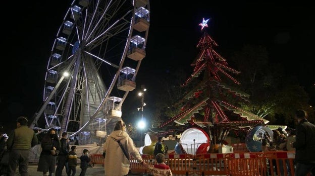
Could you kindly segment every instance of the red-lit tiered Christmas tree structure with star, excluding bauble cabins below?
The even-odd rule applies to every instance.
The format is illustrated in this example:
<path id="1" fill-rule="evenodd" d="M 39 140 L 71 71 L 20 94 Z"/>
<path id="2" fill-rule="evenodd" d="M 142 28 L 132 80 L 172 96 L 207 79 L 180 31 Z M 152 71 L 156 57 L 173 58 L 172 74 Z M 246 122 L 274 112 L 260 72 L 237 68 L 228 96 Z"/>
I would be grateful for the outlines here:
<path id="1" fill-rule="evenodd" d="M 208 21 L 209 19 L 202 19 L 202 23 L 199 24 L 201 31 L 208 27 Z M 232 76 L 232 74 L 239 74 L 240 71 L 231 68 L 227 60 L 215 51 L 215 46 L 219 45 L 204 32 L 197 43 L 199 53 L 191 64 L 194 66 L 193 72 L 181 86 L 188 85 L 199 76 L 202 76 L 202 80 L 193 85 L 193 89 L 181 100 L 184 104 L 181 112 L 160 125 L 158 127 L 160 130 L 171 128 L 173 122 L 186 127 L 206 127 L 212 143 L 218 144 L 225 140 L 231 129 L 238 136 L 238 131 L 247 132 L 253 126 L 265 125 L 269 122 L 226 102 L 226 94 L 231 94 L 242 101 L 248 101 L 248 95 L 229 85 L 240 84 Z M 160 134 L 167 133 L 170 133 L 170 130 Z"/>

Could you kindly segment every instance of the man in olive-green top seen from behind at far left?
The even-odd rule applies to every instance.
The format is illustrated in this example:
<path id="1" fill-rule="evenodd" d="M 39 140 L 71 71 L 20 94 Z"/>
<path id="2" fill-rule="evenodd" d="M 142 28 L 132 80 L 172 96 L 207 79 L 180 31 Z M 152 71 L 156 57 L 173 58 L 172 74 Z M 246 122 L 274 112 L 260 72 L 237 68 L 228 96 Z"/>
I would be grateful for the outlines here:
<path id="1" fill-rule="evenodd" d="M 31 147 L 38 144 L 38 138 L 34 130 L 27 125 L 27 119 L 23 116 L 17 119 L 17 128 L 9 135 L 7 149 L 9 154 L 10 175 L 15 175 L 19 166 L 21 175 L 28 175 L 28 159 Z"/>

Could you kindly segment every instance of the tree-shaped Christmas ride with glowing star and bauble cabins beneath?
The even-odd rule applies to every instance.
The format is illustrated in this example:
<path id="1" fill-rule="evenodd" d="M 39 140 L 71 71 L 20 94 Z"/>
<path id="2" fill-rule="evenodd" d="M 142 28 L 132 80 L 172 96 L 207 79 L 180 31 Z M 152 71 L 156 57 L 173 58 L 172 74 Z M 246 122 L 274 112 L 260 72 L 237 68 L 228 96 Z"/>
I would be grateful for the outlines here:
<path id="1" fill-rule="evenodd" d="M 249 96 L 230 85 L 240 84 L 231 75 L 239 74 L 240 71 L 231 68 L 227 60 L 214 49 L 218 44 L 205 32 L 208 21 L 209 19 L 203 19 L 199 24 L 203 32 L 196 46 L 199 53 L 191 64 L 194 66 L 193 72 L 182 84 L 186 86 L 193 83 L 193 89 L 180 101 L 183 105 L 180 113 L 151 131 L 157 135 L 182 132 L 180 149 L 175 149 L 179 153 L 218 152 L 219 146 L 226 143 L 229 134 L 237 135 L 240 132 L 247 135 L 247 148 L 259 151 L 261 142 L 253 139 L 260 132 L 266 131 L 272 136 L 272 129 L 279 126 L 270 126 L 271 129 L 267 127 L 268 120 L 234 105 L 238 101 L 248 102 Z M 197 81 L 193 82 L 195 79 Z"/>

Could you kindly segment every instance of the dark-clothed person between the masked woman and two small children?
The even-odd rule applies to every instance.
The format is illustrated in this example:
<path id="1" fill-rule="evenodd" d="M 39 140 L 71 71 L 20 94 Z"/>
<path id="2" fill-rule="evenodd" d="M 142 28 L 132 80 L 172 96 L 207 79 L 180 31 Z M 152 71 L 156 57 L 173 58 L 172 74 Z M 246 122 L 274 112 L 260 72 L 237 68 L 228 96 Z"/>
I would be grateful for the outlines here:
<path id="1" fill-rule="evenodd" d="M 57 157 L 57 168 L 56 168 L 56 176 L 62 175 L 62 170 L 64 167 L 66 167 L 66 172 L 68 173 L 69 167 L 68 167 L 68 153 L 70 151 L 69 146 L 69 139 L 68 139 L 68 133 L 63 132 L 62 138 L 60 139 L 60 152 Z"/>

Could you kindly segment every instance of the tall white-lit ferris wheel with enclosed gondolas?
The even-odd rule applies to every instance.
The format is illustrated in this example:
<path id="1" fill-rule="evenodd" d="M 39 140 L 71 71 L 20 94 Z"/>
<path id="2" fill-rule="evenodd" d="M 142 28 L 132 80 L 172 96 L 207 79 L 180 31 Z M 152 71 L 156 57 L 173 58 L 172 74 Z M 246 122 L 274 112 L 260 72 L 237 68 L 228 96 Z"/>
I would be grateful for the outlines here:
<path id="1" fill-rule="evenodd" d="M 30 128 L 55 128 L 83 144 L 111 132 L 136 87 L 148 28 L 148 0 L 74 0 L 51 49 L 43 104 Z"/>

